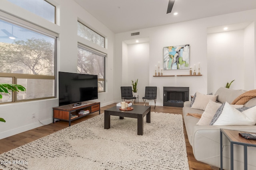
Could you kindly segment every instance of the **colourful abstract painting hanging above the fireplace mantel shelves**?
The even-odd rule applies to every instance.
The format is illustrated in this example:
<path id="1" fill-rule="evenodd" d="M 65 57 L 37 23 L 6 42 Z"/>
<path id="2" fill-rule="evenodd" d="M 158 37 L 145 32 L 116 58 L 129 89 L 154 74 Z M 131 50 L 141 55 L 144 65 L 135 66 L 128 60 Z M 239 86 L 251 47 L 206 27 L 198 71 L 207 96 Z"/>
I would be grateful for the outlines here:
<path id="1" fill-rule="evenodd" d="M 190 68 L 190 46 L 177 45 L 164 47 L 164 70 L 182 70 Z"/>

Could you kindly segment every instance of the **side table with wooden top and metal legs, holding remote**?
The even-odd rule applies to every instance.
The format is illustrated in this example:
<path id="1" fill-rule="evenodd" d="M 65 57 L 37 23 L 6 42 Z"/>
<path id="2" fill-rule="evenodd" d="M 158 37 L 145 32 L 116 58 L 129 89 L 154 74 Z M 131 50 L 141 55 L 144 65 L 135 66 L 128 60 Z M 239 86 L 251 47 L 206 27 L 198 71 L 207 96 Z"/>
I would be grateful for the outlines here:
<path id="1" fill-rule="evenodd" d="M 251 133 L 251 132 L 220 129 L 220 170 L 223 170 L 222 134 L 224 134 L 230 141 L 230 169 L 234 170 L 234 144 L 235 144 L 235 145 L 244 146 L 244 170 L 247 170 L 247 147 L 256 147 L 256 141 L 244 139 L 243 137 L 239 136 L 239 133 Z"/>

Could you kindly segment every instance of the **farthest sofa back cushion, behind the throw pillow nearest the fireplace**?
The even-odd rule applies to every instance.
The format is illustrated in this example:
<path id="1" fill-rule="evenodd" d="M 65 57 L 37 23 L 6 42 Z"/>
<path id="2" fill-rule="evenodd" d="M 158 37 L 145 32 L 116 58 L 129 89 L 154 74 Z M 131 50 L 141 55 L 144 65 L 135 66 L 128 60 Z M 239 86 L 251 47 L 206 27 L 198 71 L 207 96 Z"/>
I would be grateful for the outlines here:
<path id="1" fill-rule="evenodd" d="M 221 103 L 232 103 L 238 96 L 246 92 L 246 90 L 232 90 L 225 87 L 220 87 L 215 95 L 218 95 L 217 101 Z"/>

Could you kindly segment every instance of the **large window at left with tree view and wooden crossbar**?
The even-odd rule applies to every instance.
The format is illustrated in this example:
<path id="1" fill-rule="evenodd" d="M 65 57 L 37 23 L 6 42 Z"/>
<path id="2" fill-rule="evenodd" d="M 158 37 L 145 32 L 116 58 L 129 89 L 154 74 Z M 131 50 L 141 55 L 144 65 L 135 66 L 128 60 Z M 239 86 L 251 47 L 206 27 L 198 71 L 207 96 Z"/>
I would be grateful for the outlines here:
<path id="1" fill-rule="evenodd" d="M 55 97 L 57 35 L 21 22 L 0 19 L 0 83 L 20 84 L 26 91 L 1 93 L 0 103 Z"/>

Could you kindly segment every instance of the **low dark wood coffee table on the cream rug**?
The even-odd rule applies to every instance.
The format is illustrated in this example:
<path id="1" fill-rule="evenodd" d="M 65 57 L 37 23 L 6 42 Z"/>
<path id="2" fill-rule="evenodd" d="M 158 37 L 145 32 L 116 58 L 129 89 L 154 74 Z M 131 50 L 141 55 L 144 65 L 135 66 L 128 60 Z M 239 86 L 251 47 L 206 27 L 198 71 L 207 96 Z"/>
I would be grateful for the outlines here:
<path id="1" fill-rule="evenodd" d="M 133 107 L 133 110 L 130 111 L 122 111 L 118 106 L 106 109 L 104 111 L 104 129 L 110 129 L 110 115 L 119 116 L 120 119 L 124 119 L 124 117 L 131 117 L 138 119 L 138 135 L 143 135 L 143 118 L 147 115 L 146 122 L 151 122 L 151 107 L 140 105 L 132 105 L 131 107 Z"/>

